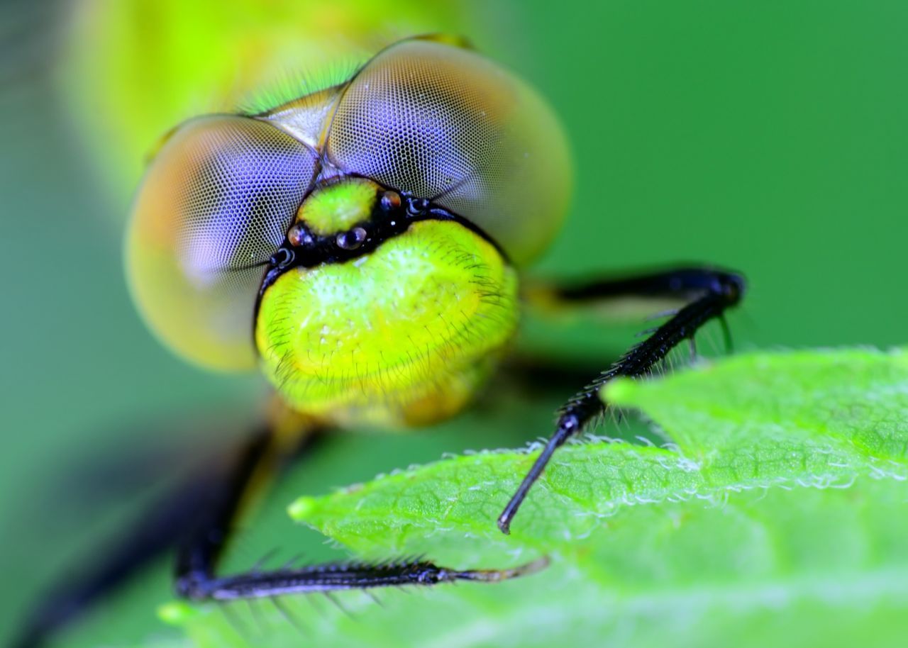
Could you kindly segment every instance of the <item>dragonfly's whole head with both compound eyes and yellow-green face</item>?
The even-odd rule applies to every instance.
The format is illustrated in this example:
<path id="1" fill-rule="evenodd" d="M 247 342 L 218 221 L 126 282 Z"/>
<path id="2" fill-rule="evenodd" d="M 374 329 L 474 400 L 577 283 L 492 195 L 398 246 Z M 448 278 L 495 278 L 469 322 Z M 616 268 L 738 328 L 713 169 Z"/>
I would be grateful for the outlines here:
<path id="1" fill-rule="evenodd" d="M 403 41 L 339 86 L 175 129 L 133 206 L 129 280 L 184 358 L 258 364 L 335 422 L 434 420 L 512 337 L 515 269 L 554 236 L 569 180 L 527 85 Z"/>

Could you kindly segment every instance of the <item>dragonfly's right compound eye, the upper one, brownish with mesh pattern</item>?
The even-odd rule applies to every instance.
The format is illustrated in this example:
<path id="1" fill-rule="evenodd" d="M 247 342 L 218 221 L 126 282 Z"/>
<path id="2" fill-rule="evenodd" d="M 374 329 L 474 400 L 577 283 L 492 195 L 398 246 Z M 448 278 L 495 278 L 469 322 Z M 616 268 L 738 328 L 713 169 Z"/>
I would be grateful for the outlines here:
<path id="1" fill-rule="evenodd" d="M 376 55 L 338 103 L 326 152 L 345 172 L 462 216 L 523 264 L 568 208 L 565 135 L 526 83 L 467 49 L 409 40 Z"/>

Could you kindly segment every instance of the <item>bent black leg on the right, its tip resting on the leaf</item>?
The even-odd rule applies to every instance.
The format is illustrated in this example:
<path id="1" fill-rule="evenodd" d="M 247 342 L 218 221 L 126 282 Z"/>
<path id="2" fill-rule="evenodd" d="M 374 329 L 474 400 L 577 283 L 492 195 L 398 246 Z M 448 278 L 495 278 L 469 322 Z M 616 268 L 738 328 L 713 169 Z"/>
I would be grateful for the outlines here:
<path id="1" fill-rule="evenodd" d="M 645 375 L 680 342 L 693 339 L 696 331 L 710 319 L 719 318 L 724 323 L 725 310 L 735 306 L 744 291 L 745 280 L 741 275 L 708 268 L 666 270 L 552 290 L 551 297 L 572 303 L 639 296 L 685 299 L 687 304 L 561 408 L 555 434 L 548 439 L 546 447 L 518 486 L 508 506 L 498 516 L 498 528 L 502 533 L 509 533 L 511 521 L 517 515 L 520 504 L 555 450 L 605 411 L 607 406 L 598 396 L 599 389 L 618 376 Z"/>

